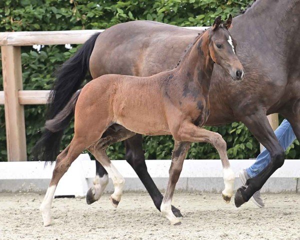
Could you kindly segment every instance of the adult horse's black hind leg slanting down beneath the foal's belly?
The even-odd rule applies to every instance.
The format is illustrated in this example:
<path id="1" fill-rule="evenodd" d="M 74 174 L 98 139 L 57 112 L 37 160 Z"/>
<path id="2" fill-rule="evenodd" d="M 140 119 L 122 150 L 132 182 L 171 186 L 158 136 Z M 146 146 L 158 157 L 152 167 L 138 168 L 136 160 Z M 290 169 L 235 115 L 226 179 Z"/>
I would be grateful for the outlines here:
<path id="1" fill-rule="evenodd" d="M 155 185 L 153 179 L 149 175 L 147 171 L 147 166 L 145 163 L 145 156 L 142 150 L 142 136 L 140 134 L 136 134 L 128 138 L 125 141 L 126 148 L 126 161 L 130 164 L 133 170 L 136 172 L 137 176 L 147 189 L 152 201 L 156 208 L 160 211 L 160 205 L 163 199 L 163 195 L 158 190 Z M 182 216 L 180 210 L 174 206 L 172 207 L 172 212 L 175 216 Z"/>

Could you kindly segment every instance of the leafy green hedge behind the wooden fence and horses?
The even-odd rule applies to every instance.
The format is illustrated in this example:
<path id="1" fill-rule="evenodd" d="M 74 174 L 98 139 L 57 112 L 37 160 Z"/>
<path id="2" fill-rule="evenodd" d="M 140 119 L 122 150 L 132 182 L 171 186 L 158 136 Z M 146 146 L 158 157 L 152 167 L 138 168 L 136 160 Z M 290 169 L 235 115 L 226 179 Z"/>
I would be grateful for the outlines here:
<path id="1" fill-rule="evenodd" d="M 161 21 L 179 26 L 210 25 L 217 15 L 227 17 L 245 9 L 250 0 L 1 0 L 0 31 L 45 31 L 71 29 L 103 29 L 119 22 L 135 19 Z M 44 46 L 38 52 L 22 47 L 24 89 L 50 89 L 55 68 L 76 50 L 63 45 Z M 0 69 L 1 70 L 1 69 Z M 0 89 L 2 76 L 0 75 Z M 27 153 L 40 136 L 45 106 L 25 106 Z M 243 124 L 231 123 L 207 129 L 221 133 L 227 142 L 229 158 L 257 155 L 259 145 Z M 66 130 L 63 146 L 71 139 L 73 123 Z M 298 142 L 296 142 L 298 145 Z M 293 145 L 289 158 L 299 157 Z M 0 106 L 0 161 L 6 160 L 4 107 Z M 143 147 L 148 159 L 170 158 L 173 141 L 170 136 L 145 136 Z M 297 147 L 297 151 L 295 150 Z M 112 159 L 124 159 L 123 143 L 108 148 Z M 209 144 L 192 143 L 189 158 L 218 158 Z"/>

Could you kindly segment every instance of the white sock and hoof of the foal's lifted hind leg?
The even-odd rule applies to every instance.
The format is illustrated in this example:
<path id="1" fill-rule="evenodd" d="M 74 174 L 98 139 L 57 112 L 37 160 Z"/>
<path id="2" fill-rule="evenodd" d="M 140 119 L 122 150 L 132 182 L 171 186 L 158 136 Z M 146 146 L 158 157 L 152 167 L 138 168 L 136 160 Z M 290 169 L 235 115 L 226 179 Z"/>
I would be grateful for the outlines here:
<path id="1" fill-rule="evenodd" d="M 125 179 L 112 163 L 110 163 L 109 166 L 104 166 L 104 168 L 111 177 L 114 186 L 114 192 L 110 196 L 110 201 L 114 207 L 117 207 L 121 200 Z"/>

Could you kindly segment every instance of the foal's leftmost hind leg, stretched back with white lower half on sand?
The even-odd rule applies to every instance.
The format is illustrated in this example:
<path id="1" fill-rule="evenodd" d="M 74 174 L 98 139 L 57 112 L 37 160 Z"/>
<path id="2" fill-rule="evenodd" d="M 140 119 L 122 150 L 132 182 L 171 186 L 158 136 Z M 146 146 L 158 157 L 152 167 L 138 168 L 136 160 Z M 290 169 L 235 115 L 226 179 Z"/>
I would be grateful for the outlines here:
<path id="1" fill-rule="evenodd" d="M 49 187 L 39 207 L 44 226 L 48 226 L 51 223 L 50 208 L 56 185 L 82 150 L 84 150 L 83 142 L 73 138 L 71 143 L 57 156 Z"/>

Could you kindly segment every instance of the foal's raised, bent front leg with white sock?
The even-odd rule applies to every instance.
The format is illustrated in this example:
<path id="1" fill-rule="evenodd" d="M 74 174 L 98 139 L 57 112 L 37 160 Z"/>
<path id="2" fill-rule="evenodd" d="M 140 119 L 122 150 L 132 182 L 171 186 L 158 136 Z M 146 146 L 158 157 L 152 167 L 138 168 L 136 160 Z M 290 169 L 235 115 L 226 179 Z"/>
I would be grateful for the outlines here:
<path id="1" fill-rule="evenodd" d="M 208 142 L 216 148 L 220 155 L 223 166 L 223 179 L 225 188 L 222 191 L 222 197 L 226 203 L 229 203 L 233 194 L 235 175 L 230 168 L 226 151 L 226 142 L 222 136 L 217 132 L 208 131 L 204 128 L 194 125 L 189 121 L 185 121 L 181 124 L 177 137 L 184 141 Z"/>

